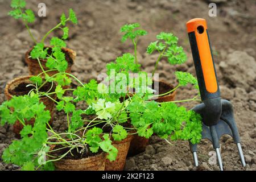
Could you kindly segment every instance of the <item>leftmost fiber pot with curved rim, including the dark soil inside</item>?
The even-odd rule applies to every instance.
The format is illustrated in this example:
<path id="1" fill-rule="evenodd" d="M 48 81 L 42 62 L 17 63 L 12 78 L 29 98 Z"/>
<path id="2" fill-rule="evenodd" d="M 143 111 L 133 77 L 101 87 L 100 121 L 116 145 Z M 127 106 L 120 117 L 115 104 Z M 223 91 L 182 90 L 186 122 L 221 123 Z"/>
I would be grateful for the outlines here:
<path id="1" fill-rule="evenodd" d="M 18 77 L 8 82 L 5 87 L 5 96 L 7 100 L 10 100 L 11 98 L 13 98 L 13 96 L 24 96 L 28 94 L 31 88 L 30 87 L 26 88 L 26 85 L 32 84 L 31 81 L 29 80 L 31 77 L 32 76 Z M 55 90 L 55 86 L 56 85 L 53 86 L 52 90 Z M 47 91 L 47 89 L 49 88 L 50 88 L 49 85 L 46 84 L 46 86 L 42 87 L 42 90 L 46 89 Z M 56 94 L 53 94 L 52 97 L 53 99 L 56 99 Z M 48 97 L 41 97 L 40 102 L 43 102 L 43 104 L 46 106 L 46 110 L 49 110 L 51 113 L 51 120 L 49 121 L 49 124 L 51 125 L 52 119 L 53 119 L 53 108 L 55 106 L 55 103 Z M 26 121 L 26 124 L 33 125 L 34 122 L 35 122 L 34 119 L 31 119 L 30 121 Z M 22 129 L 23 129 L 23 125 L 19 121 L 16 121 L 13 126 L 13 131 L 17 137 L 20 137 L 19 133 Z"/>

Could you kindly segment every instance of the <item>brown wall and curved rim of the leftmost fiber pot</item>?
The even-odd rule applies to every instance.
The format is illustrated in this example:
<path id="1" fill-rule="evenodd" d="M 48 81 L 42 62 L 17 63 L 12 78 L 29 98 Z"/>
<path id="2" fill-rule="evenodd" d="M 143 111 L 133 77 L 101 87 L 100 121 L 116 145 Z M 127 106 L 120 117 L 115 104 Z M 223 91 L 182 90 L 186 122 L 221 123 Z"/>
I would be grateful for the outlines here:
<path id="1" fill-rule="evenodd" d="M 13 98 L 13 96 L 24 95 L 22 92 L 16 92 L 16 94 L 14 94 L 14 95 L 13 95 L 13 93 L 10 93 L 10 92 L 11 92 L 11 90 L 15 90 L 15 88 L 17 88 L 20 84 L 31 84 L 31 81 L 29 80 L 31 77 L 32 76 L 22 76 L 22 77 L 15 78 L 14 80 L 8 82 L 5 87 L 5 96 L 6 96 L 7 100 L 10 100 L 11 98 Z M 56 99 L 56 94 L 53 94 L 52 98 Z M 46 106 L 46 110 L 49 110 L 51 113 L 51 120 L 49 121 L 49 124 L 51 125 L 52 118 L 53 118 L 53 108 L 55 106 L 55 103 L 48 97 L 41 97 L 40 102 L 43 102 L 43 104 Z M 35 122 L 34 119 L 31 119 L 31 121 L 26 121 L 26 124 L 33 125 L 34 122 Z M 13 131 L 17 137 L 20 137 L 19 133 L 22 129 L 23 129 L 23 125 L 19 121 L 16 121 L 13 126 Z"/>

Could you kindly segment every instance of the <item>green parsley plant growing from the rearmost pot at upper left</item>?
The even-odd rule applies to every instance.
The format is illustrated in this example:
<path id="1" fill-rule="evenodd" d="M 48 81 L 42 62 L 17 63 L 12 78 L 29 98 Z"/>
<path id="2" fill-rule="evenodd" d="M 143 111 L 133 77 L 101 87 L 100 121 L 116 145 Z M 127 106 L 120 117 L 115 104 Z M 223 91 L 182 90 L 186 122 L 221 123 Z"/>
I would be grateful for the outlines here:
<path id="1" fill-rule="evenodd" d="M 32 59 L 38 60 L 44 76 L 49 77 L 47 74 L 47 72 L 49 71 L 58 71 L 60 73 L 67 71 L 68 61 L 66 60 L 65 53 L 62 49 L 66 47 L 64 40 L 68 39 L 69 27 L 67 26 L 67 22 L 72 22 L 74 24 L 78 23 L 75 12 L 72 9 L 69 9 L 68 17 L 63 13 L 60 17 L 60 23 L 58 23 L 55 27 L 49 30 L 46 35 L 43 36 L 40 42 L 37 42 L 30 31 L 30 27 L 28 26 L 28 23 L 35 22 L 35 15 L 31 9 L 26 9 L 26 1 L 12 0 L 11 7 L 13 8 L 13 10 L 9 12 L 9 15 L 13 16 L 15 19 L 22 19 L 28 30 L 28 33 L 30 34 L 32 40 L 35 43 L 34 48 L 30 52 L 30 56 Z M 63 36 L 61 38 L 51 38 L 51 48 L 46 47 L 44 44 L 46 38 L 53 31 L 59 29 L 63 31 Z M 47 60 L 46 67 L 49 68 L 49 71 L 44 71 L 40 63 L 40 59 Z M 34 81 L 39 80 L 39 78 L 33 79 Z M 51 81 L 56 81 L 62 86 L 69 85 L 71 82 L 67 75 L 57 75 L 56 77 L 53 77 Z M 38 85 L 40 84 L 38 83 Z"/>

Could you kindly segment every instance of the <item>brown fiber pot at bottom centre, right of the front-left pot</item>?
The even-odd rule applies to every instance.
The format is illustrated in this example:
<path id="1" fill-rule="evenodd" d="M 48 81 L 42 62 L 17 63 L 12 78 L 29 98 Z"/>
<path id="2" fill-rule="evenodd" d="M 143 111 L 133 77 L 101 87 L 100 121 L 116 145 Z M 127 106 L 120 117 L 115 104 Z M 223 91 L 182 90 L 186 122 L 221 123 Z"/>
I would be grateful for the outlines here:
<path id="1" fill-rule="evenodd" d="M 112 144 L 118 150 L 117 159 L 110 162 L 109 159 L 105 161 L 105 171 L 122 171 L 125 167 L 126 156 L 130 147 L 133 135 L 128 135 L 126 139 L 121 142 L 112 140 Z"/>

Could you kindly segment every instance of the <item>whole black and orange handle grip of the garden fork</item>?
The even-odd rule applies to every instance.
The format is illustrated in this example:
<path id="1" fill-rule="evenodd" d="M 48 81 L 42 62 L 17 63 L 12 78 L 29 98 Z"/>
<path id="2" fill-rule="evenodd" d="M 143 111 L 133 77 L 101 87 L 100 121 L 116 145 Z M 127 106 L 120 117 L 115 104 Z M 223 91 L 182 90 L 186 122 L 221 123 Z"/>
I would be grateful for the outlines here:
<path id="1" fill-rule="evenodd" d="M 202 101 L 220 97 L 216 69 L 205 19 L 187 22 L 187 31 Z"/>

